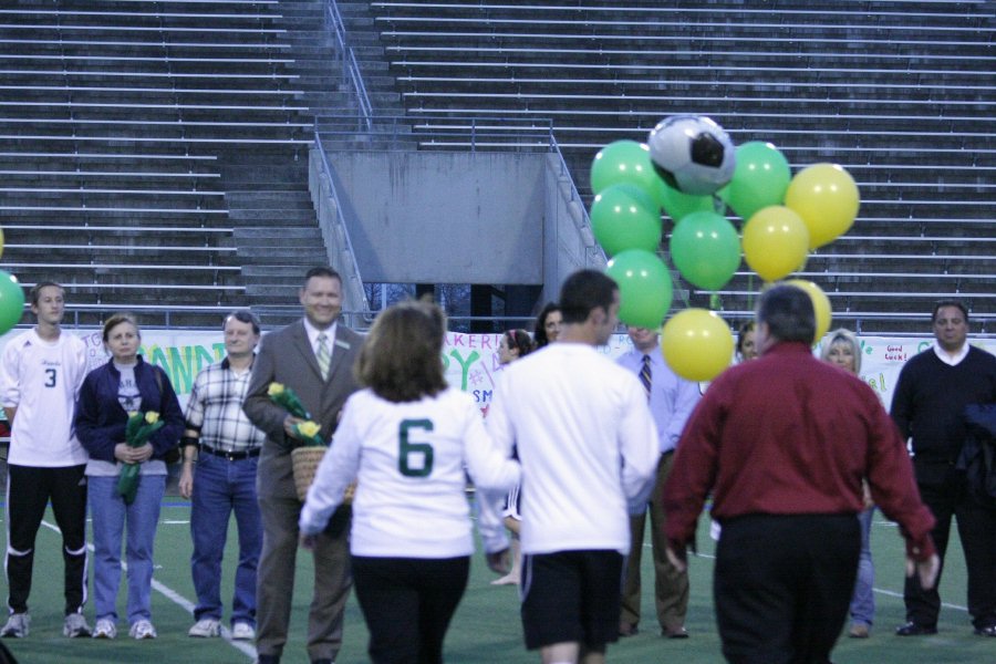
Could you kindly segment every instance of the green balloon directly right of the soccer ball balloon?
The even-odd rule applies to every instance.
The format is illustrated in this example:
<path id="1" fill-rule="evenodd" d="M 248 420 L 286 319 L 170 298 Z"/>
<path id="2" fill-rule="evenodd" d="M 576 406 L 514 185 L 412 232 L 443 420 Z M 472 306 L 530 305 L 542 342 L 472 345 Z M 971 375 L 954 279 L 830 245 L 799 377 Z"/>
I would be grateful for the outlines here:
<path id="1" fill-rule="evenodd" d="M 737 146 L 737 167 L 719 197 L 747 221 L 756 211 L 781 205 L 792 179 L 788 160 L 770 143 L 751 141 Z"/>

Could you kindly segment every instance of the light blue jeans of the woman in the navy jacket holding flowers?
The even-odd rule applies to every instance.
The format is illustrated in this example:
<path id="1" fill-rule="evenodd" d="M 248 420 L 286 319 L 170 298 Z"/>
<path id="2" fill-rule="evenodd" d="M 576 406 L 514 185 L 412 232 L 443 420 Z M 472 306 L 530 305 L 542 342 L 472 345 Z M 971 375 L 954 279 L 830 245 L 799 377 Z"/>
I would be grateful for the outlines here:
<path id="1" fill-rule="evenodd" d="M 121 584 L 121 544 L 127 525 L 128 623 L 152 618 L 153 544 L 165 475 L 142 475 L 132 505 L 117 495 L 116 477 L 87 477 L 93 518 L 93 604 L 96 619 L 117 621 L 115 604 Z"/>

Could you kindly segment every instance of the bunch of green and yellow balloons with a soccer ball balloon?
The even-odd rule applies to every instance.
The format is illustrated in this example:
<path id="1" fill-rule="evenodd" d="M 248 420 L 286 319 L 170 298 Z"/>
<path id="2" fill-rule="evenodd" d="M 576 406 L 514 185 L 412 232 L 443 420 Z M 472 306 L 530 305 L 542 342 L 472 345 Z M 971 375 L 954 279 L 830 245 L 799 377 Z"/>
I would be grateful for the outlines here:
<path id="1" fill-rule="evenodd" d="M 740 266 L 765 281 L 784 279 L 806 264 L 809 251 L 847 232 L 858 215 L 854 179 L 834 164 L 815 164 L 792 175 L 770 143 L 734 147 L 706 117 L 672 116 L 646 144 L 615 141 L 591 165 L 592 229 L 611 257 L 608 273 L 619 283 L 620 320 L 660 328 L 671 309 L 673 286 L 664 262 L 662 210 L 674 221 L 667 248 L 682 277 L 703 290 L 723 288 Z M 740 234 L 725 216 L 743 220 Z M 741 238 L 743 236 L 743 238 Z M 830 301 L 802 279 L 817 314 L 813 341 L 830 328 Z M 709 381 L 733 356 L 729 325 L 716 313 L 688 309 L 664 325 L 662 351 L 689 381 Z"/>

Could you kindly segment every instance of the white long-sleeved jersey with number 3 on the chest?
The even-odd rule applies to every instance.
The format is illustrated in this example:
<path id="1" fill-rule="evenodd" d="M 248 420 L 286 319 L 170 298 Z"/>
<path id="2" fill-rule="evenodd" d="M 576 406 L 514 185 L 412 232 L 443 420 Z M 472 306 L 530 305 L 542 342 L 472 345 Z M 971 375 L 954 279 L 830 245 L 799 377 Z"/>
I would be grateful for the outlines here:
<path id="1" fill-rule="evenodd" d="M 48 342 L 31 329 L 11 340 L 0 359 L 3 406 L 17 408 L 8 463 L 60 467 L 85 464 L 73 433 L 73 409 L 86 376 L 86 346 L 63 331 Z"/>

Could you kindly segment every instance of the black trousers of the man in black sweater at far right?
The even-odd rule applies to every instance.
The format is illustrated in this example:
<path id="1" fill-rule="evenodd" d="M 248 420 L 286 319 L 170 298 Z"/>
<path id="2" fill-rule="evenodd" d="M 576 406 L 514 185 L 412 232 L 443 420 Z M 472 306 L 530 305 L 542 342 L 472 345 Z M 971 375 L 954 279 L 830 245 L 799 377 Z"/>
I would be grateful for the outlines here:
<path id="1" fill-rule="evenodd" d="M 941 573 L 930 590 L 924 590 L 915 575 L 906 579 L 903 588 L 906 620 L 926 626 L 937 624 L 941 612 L 937 587 L 944 572 L 944 554 L 954 517 L 965 551 L 972 624 L 976 627 L 996 625 L 996 510 L 978 505 L 968 494 L 964 475 L 947 464 L 916 464 L 916 476 L 920 496 L 937 519 L 931 536 L 941 557 Z"/>

